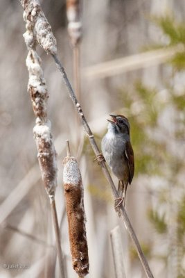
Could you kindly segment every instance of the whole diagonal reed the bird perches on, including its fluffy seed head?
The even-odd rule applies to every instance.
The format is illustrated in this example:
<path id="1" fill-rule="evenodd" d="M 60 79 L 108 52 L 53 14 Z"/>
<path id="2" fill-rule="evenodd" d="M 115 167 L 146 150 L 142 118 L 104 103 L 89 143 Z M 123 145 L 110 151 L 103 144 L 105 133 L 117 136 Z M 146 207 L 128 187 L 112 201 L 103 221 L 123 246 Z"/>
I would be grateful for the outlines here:
<path id="1" fill-rule="evenodd" d="M 30 0 L 30 1 L 28 1 L 28 0 L 20 0 L 20 1 L 21 1 L 22 6 L 24 7 L 24 10 L 26 10 L 28 20 L 32 21 L 34 19 L 34 20 L 37 21 L 37 19 L 35 19 L 35 17 L 32 19 L 32 17 L 30 15 L 32 15 L 32 13 L 33 13 L 33 15 L 35 16 L 35 10 L 34 10 L 35 6 L 33 5 L 33 3 L 36 2 L 37 5 L 39 5 L 39 1 L 36 1 L 36 0 Z M 66 72 L 64 70 L 64 67 L 62 67 L 62 64 L 60 63 L 60 60 L 58 60 L 58 57 L 56 56 L 57 50 L 56 50 L 55 39 L 53 39 L 54 36 L 53 36 L 53 34 L 52 35 L 47 35 L 48 30 L 51 31 L 51 27 L 49 28 L 48 22 L 47 22 L 47 20 L 46 20 L 46 18 L 44 16 L 44 13 L 42 12 L 42 9 L 41 9 L 40 6 L 39 6 L 38 14 L 42 15 L 41 16 L 42 20 L 40 22 L 41 23 L 40 27 L 43 28 L 43 29 L 42 28 L 35 28 L 35 33 L 37 35 L 39 44 L 46 51 L 49 51 L 50 54 L 53 56 L 53 58 L 55 60 L 55 63 L 58 66 L 58 70 L 62 74 L 62 79 L 64 81 L 64 84 L 67 86 L 67 91 L 69 92 L 69 97 L 71 97 L 71 100 L 73 101 L 73 104 L 75 105 L 75 107 L 76 107 L 76 109 L 78 111 L 78 115 L 79 115 L 79 117 L 81 119 L 82 125 L 84 126 L 85 133 L 87 133 L 87 136 L 89 138 L 89 142 L 91 144 L 91 147 L 92 147 L 92 149 L 94 150 L 94 153 L 97 156 L 98 154 L 100 154 L 100 150 L 98 149 L 98 145 L 96 144 L 96 140 L 94 139 L 94 135 L 91 133 L 91 129 L 89 128 L 89 124 L 87 123 L 85 115 L 82 112 L 82 108 L 80 107 L 80 104 L 79 104 L 78 100 L 76 99 L 76 95 L 73 92 L 73 88 L 71 87 L 71 83 L 69 82 L 69 79 L 68 79 L 67 74 L 66 74 Z M 46 26 L 46 31 L 44 30 L 44 26 Z M 42 32 L 41 31 L 43 31 L 43 33 L 46 35 L 43 38 L 42 38 Z M 44 40 L 44 38 L 48 38 L 48 40 Z M 107 166 L 106 166 L 105 162 L 101 161 L 100 162 L 100 166 L 102 167 L 103 174 L 105 175 L 107 181 L 109 182 L 109 185 L 112 188 L 112 193 L 113 193 L 114 197 L 118 198 L 119 196 L 118 196 L 118 193 L 117 193 L 117 190 L 116 190 L 116 186 L 114 185 L 114 182 L 112 181 L 112 177 L 109 174 L 109 171 L 107 169 Z M 148 261 L 146 260 L 146 257 L 144 256 L 144 254 L 143 254 L 143 252 L 141 250 L 141 246 L 139 244 L 139 240 L 136 237 L 136 234 L 134 232 L 132 224 L 130 223 L 130 220 L 129 220 L 128 216 L 127 216 L 127 213 L 126 213 L 125 208 L 123 207 L 123 205 L 120 206 L 120 211 L 121 211 L 121 216 L 123 218 L 123 222 L 125 223 L 125 226 L 127 228 L 127 231 L 129 232 L 130 237 L 132 238 L 132 240 L 133 240 L 133 242 L 135 244 L 136 251 L 137 251 L 137 253 L 139 255 L 139 259 L 141 260 L 141 263 L 143 265 L 143 269 L 146 272 L 146 276 L 148 278 L 153 278 L 152 272 L 151 272 L 150 267 L 148 265 Z"/>

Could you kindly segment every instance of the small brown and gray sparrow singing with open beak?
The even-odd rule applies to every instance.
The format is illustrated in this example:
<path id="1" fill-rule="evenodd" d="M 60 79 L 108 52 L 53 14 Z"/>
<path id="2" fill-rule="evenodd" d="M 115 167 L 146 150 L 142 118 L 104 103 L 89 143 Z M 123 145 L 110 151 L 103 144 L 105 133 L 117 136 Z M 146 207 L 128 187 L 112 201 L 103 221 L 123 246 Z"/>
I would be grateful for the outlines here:
<path id="1" fill-rule="evenodd" d="M 134 152 L 130 142 L 130 124 L 123 115 L 109 115 L 111 120 L 107 126 L 107 133 L 101 142 L 101 149 L 107 165 L 109 165 L 113 174 L 118 178 L 118 195 L 115 208 L 118 208 L 123 202 L 125 206 L 125 197 L 127 185 L 131 184 L 134 177 Z"/>

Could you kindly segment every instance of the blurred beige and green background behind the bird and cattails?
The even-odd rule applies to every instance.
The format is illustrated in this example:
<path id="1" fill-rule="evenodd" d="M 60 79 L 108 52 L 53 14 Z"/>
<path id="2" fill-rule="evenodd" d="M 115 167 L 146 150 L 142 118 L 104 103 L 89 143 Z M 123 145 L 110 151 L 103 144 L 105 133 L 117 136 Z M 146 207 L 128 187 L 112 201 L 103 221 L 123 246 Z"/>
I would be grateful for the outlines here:
<path id="1" fill-rule="evenodd" d="M 40 2 L 73 84 L 66 3 Z M 50 205 L 33 140 L 35 115 L 27 92 L 22 13 L 19 1 L 1 0 L 0 276 L 60 277 Z M 154 277 L 185 277 L 184 15 L 185 2 L 174 0 L 94 0 L 84 1 L 82 7 L 80 103 L 99 146 L 109 113 L 130 120 L 136 169 L 127 190 L 126 211 Z M 55 63 L 39 46 L 37 51 L 48 85 L 48 116 L 58 153 L 56 204 L 68 277 L 77 275 L 71 266 L 62 188 L 67 139 L 73 156 L 78 156 L 85 188 L 87 277 L 116 277 L 110 243 L 116 225 L 121 230 L 126 277 L 145 277 Z M 25 267 L 8 269 L 11 264 Z"/>

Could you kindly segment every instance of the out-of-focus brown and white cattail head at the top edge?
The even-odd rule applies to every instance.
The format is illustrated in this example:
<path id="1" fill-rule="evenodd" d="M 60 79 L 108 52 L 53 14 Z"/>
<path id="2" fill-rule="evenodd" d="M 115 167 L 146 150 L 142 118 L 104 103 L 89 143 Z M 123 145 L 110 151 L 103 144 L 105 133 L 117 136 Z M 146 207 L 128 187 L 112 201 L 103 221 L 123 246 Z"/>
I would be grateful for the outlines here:
<path id="1" fill-rule="evenodd" d="M 68 32 L 73 46 L 76 46 L 82 37 L 81 10 L 80 0 L 67 0 Z"/>

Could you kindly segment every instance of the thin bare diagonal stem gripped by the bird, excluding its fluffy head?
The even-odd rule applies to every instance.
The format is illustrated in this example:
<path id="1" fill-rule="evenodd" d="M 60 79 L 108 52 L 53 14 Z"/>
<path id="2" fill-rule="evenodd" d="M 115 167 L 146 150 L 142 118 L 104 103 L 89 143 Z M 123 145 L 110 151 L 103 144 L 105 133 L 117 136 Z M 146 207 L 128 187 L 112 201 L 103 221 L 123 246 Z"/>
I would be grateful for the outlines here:
<path id="1" fill-rule="evenodd" d="M 73 101 L 73 104 L 76 106 L 76 109 L 78 111 L 78 115 L 80 116 L 80 119 L 82 121 L 82 125 L 85 129 L 85 132 L 87 133 L 87 136 L 89 138 L 89 142 L 91 144 L 92 149 L 94 150 L 94 154 L 96 156 L 98 156 L 98 154 L 100 154 L 100 150 L 98 149 L 98 145 L 96 144 L 96 140 L 94 139 L 94 135 L 91 132 L 91 129 L 89 127 L 89 124 L 87 123 L 87 120 L 85 118 L 84 113 L 82 112 L 82 108 L 80 107 L 80 104 L 78 102 L 78 100 L 76 99 L 76 95 L 73 92 L 73 88 L 71 87 L 71 83 L 67 77 L 67 74 L 64 70 L 64 67 L 62 66 L 62 64 L 60 63 L 60 60 L 58 60 L 58 57 L 55 54 L 51 54 L 55 60 L 56 65 L 58 66 L 58 70 L 60 71 L 60 73 L 62 74 L 62 79 L 64 81 L 64 84 L 67 86 L 67 90 L 69 92 L 69 97 L 71 97 L 71 100 Z M 100 166 L 102 167 L 103 170 L 103 174 L 105 175 L 107 181 L 109 182 L 109 185 L 112 188 L 112 193 L 115 197 L 115 199 L 117 199 L 118 196 L 118 192 L 116 190 L 116 186 L 114 185 L 114 182 L 112 181 L 112 177 L 109 174 L 109 170 L 107 169 L 107 165 L 105 164 L 105 161 L 100 161 Z M 130 234 L 130 237 L 132 238 L 134 245 L 136 247 L 136 251 L 137 254 L 139 256 L 139 259 L 141 260 L 141 264 L 143 265 L 143 269 L 146 272 L 146 276 L 148 278 L 153 278 L 152 275 L 152 271 L 150 270 L 150 267 L 148 265 L 148 261 L 146 260 L 145 255 L 143 254 L 143 251 L 141 250 L 141 246 L 139 244 L 139 240 L 136 237 L 136 234 L 134 232 L 134 229 L 132 227 L 132 224 L 130 223 L 130 220 L 127 216 L 127 213 L 125 211 L 125 208 L 123 207 L 123 205 L 121 204 L 120 206 L 120 211 L 121 211 L 121 217 L 123 218 L 123 222 L 125 223 L 125 227 L 127 229 L 127 231 Z"/>

